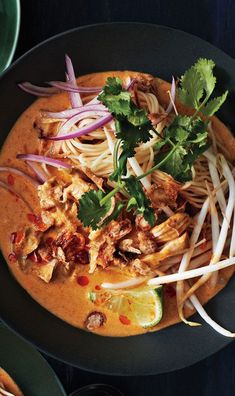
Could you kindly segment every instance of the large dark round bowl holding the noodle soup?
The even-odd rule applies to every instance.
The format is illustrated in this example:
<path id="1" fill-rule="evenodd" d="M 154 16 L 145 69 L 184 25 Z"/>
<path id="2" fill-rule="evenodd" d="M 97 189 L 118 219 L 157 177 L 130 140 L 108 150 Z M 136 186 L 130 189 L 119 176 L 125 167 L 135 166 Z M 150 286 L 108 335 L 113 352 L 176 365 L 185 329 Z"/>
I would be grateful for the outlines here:
<path id="1" fill-rule="evenodd" d="M 235 61 L 219 49 L 189 34 L 163 26 L 117 23 L 87 26 L 56 36 L 20 58 L 0 80 L 2 143 L 22 111 L 33 101 L 16 82 L 35 83 L 64 78 L 64 54 L 78 75 L 102 70 L 138 70 L 161 76 L 181 75 L 198 57 L 214 59 L 219 89 L 230 97 L 221 117 L 235 126 L 233 94 Z M 99 337 L 62 322 L 31 299 L 0 266 L 0 312 L 12 328 L 48 354 L 72 365 L 113 375 L 146 375 L 191 365 L 218 351 L 230 339 L 205 323 L 184 324 L 158 333 L 128 338 Z M 235 330 L 235 278 L 207 310 L 222 325 Z M 79 302 L 78 302 L 79 304 Z M 197 318 L 197 320 L 200 320 Z"/>

